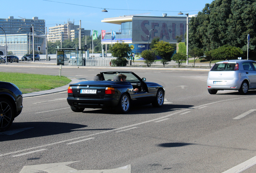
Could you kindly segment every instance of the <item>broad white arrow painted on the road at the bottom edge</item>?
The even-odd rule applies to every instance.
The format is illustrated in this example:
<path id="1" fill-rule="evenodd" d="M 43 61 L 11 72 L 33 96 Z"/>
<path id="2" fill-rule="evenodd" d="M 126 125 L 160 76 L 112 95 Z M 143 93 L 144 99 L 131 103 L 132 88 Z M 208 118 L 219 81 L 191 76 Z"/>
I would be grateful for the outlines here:
<path id="1" fill-rule="evenodd" d="M 123 167 L 115 169 L 102 169 L 102 170 L 77 170 L 66 165 L 75 163 L 78 161 L 62 162 L 62 163 L 48 163 L 42 165 L 29 165 L 24 166 L 20 173 L 131 173 L 131 165 L 126 165 Z"/>

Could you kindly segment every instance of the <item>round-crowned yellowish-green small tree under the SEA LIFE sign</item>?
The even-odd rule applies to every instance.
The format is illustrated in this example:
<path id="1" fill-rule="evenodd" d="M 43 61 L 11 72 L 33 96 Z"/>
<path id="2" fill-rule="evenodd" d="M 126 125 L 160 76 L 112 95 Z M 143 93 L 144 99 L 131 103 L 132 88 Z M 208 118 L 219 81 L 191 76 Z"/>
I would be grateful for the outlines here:
<path id="1" fill-rule="evenodd" d="M 153 49 L 156 50 L 157 55 L 162 58 L 161 63 L 163 64 L 163 67 L 165 67 L 165 64 L 168 64 L 167 62 L 171 61 L 171 56 L 175 51 L 173 45 L 164 41 L 157 42 Z"/>

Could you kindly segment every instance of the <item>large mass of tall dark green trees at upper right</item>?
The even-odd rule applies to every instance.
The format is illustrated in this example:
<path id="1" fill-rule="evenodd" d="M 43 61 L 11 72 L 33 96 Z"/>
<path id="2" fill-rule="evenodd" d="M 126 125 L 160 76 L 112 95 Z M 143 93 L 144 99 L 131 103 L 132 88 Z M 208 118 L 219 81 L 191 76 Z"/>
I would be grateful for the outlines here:
<path id="1" fill-rule="evenodd" d="M 245 53 L 247 35 L 250 34 L 249 57 L 255 57 L 255 31 L 255 0 L 214 0 L 206 4 L 197 17 L 191 18 L 189 46 L 209 51 L 228 44 L 241 48 Z"/>

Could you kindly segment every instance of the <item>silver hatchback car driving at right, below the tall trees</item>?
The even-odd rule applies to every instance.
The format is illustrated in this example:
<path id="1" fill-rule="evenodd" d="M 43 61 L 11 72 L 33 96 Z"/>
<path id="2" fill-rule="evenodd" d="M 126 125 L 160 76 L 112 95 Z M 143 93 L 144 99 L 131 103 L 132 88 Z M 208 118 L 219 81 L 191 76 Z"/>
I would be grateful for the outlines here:
<path id="1" fill-rule="evenodd" d="M 210 94 L 218 90 L 238 90 L 245 95 L 256 89 L 256 62 L 253 60 L 225 60 L 217 62 L 210 70 L 207 79 Z"/>

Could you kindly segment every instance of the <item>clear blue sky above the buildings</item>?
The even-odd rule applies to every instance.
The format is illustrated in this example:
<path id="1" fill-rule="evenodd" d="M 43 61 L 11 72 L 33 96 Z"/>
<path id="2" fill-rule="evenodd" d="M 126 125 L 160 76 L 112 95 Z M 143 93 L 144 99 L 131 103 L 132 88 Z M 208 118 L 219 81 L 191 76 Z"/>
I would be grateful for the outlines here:
<path id="1" fill-rule="evenodd" d="M 178 15 L 180 11 L 184 14 L 197 14 L 206 3 L 211 2 L 213 0 L 5 0 L 2 2 L 0 18 L 14 16 L 31 19 L 36 16 L 45 20 L 47 30 L 56 24 L 67 23 L 68 20 L 79 25 L 81 20 L 85 30 L 118 32 L 120 25 L 103 23 L 101 20 L 133 14 L 162 16 L 167 13 L 167 16 L 181 16 Z M 101 12 L 104 8 L 108 12 Z"/>

